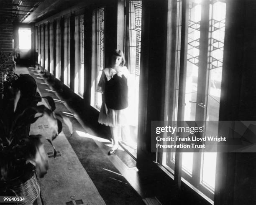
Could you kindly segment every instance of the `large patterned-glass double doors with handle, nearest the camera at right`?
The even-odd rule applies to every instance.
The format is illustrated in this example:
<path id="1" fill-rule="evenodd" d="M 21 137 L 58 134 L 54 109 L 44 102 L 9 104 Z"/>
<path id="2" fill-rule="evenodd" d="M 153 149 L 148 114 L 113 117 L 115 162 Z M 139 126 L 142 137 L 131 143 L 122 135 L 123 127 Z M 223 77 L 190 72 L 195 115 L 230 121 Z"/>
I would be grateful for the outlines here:
<path id="1" fill-rule="evenodd" d="M 214 130 L 218 134 L 218 127 L 210 121 L 219 119 L 225 0 L 177 0 L 174 5 L 177 15 L 176 25 L 173 25 L 177 31 L 176 51 L 181 51 L 181 57 L 174 58 L 175 61 L 180 61 L 180 66 L 175 69 L 182 75 L 177 75 L 176 79 L 179 94 L 175 95 L 176 104 L 174 103 L 171 112 L 175 107 L 178 110 L 176 117 L 172 119 L 203 121 L 197 126 L 204 126 L 204 130 Z M 201 153 L 182 153 L 183 180 L 211 200 L 214 197 L 216 156 L 216 153 L 203 150 Z M 164 153 L 162 160 L 163 165 L 174 170 L 175 151 Z"/>

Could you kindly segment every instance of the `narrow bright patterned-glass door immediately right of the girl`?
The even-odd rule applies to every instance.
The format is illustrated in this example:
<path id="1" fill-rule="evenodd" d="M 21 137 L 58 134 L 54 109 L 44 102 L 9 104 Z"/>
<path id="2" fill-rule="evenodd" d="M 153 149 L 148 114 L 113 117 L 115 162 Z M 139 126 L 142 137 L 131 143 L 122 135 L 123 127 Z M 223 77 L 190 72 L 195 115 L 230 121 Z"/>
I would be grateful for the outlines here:
<path id="1" fill-rule="evenodd" d="M 138 94 L 141 61 L 141 10 L 142 2 L 128 0 L 125 2 L 125 66 L 128 78 L 128 127 L 122 129 L 121 145 L 136 157 L 138 133 Z M 124 130 L 126 129 L 126 130 Z"/>

